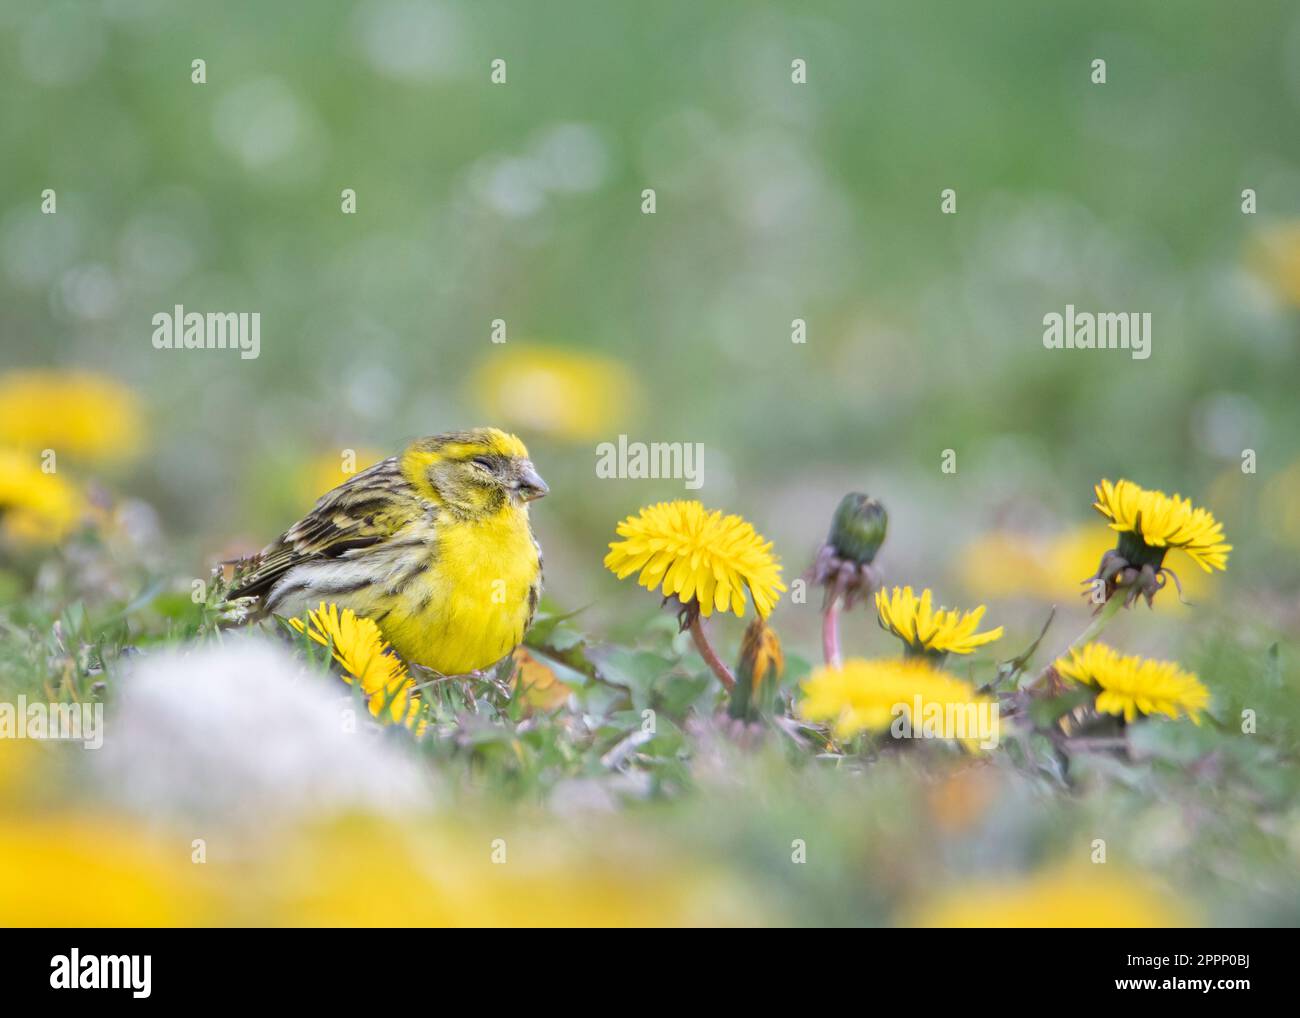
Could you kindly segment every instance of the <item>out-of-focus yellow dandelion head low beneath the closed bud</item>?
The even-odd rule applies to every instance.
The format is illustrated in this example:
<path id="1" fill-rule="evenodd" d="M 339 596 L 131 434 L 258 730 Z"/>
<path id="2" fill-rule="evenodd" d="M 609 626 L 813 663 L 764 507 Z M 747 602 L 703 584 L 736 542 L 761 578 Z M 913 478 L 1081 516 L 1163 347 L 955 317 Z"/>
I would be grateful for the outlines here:
<path id="1" fill-rule="evenodd" d="M 800 714 L 812 722 L 831 723 L 836 737 L 842 740 L 861 732 L 883 732 L 902 714 L 911 716 L 918 702 L 920 716 L 911 718 L 918 725 L 935 707 L 946 715 L 949 706 L 992 703 L 923 658 L 850 658 L 838 668 L 818 668 L 803 681 Z M 967 731 L 948 732 L 945 737 L 959 737 L 966 745 L 976 742 L 975 733 Z"/>

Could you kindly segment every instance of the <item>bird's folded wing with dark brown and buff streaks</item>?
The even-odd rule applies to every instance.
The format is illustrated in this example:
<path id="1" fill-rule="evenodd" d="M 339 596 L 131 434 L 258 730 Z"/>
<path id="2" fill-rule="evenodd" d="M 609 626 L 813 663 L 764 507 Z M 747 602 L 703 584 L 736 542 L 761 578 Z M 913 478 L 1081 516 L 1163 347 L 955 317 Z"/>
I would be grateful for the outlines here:
<path id="1" fill-rule="evenodd" d="M 237 563 L 229 598 L 265 594 L 289 569 L 338 558 L 390 538 L 411 520 L 415 493 L 395 456 L 326 491 L 303 519 L 256 555 Z"/>

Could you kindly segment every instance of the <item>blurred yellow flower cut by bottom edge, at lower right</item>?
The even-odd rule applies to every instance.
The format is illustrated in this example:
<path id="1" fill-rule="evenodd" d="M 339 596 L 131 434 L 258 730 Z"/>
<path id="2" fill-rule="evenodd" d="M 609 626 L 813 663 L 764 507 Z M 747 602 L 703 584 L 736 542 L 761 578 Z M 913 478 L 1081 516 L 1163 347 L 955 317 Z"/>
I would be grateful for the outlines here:
<path id="1" fill-rule="evenodd" d="M 906 926 L 1080 928 L 1186 926 L 1149 881 L 1105 866 L 1054 870 L 1030 879 L 980 880 L 926 902 Z"/>

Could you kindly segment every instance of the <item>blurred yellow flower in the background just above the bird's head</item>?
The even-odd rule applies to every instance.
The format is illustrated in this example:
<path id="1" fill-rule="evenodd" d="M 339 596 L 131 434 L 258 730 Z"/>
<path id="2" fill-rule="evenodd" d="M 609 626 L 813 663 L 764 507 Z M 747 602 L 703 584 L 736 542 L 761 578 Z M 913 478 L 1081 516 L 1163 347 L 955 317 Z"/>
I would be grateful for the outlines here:
<path id="1" fill-rule="evenodd" d="M 556 347 L 494 348 L 474 385 L 489 419 L 572 442 L 607 434 L 638 399 L 619 361 Z"/>

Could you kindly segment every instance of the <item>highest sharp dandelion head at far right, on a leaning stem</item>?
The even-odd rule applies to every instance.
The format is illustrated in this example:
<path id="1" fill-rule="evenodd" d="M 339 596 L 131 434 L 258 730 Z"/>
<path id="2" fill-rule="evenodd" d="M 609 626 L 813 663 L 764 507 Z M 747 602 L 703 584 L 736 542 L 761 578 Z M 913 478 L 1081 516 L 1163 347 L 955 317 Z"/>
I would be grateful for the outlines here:
<path id="1" fill-rule="evenodd" d="M 1110 529 L 1121 534 L 1121 554 L 1138 551 L 1130 541 L 1126 549 L 1123 536 L 1132 534 L 1147 555 L 1126 555 L 1130 562 L 1158 566 L 1164 550 L 1182 549 L 1205 572 L 1227 568 L 1227 553 L 1232 546 L 1223 542 L 1223 524 L 1209 510 L 1192 506 L 1190 498 L 1178 493 L 1173 498 L 1164 491 L 1149 491 L 1132 481 L 1112 484 L 1102 480 L 1096 486 L 1093 508 L 1110 520 Z"/>

